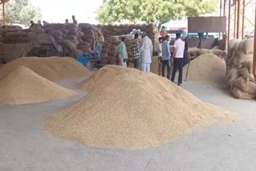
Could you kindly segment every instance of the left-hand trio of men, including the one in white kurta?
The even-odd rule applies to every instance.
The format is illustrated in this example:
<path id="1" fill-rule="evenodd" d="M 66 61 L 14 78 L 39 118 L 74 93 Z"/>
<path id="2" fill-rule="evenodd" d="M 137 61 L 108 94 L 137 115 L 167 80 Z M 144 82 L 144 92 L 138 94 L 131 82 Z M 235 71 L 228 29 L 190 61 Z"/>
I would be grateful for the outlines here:
<path id="1" fill-rule="evenodd" d="M 127 67 L 128 54 L 125 41 L 126 38 L 123 37 L 122 42 L 118 45 L 118 58 L 119 65 Z M 142 42 L 139 41 L 138 34 L 134 34 L 131 50 L 134 55 L 134 68 L 139 69 L 141 60 L 142 71 L 149 73 L 153 57 L 153 43 L 146 33 L 142 34 Z"/>

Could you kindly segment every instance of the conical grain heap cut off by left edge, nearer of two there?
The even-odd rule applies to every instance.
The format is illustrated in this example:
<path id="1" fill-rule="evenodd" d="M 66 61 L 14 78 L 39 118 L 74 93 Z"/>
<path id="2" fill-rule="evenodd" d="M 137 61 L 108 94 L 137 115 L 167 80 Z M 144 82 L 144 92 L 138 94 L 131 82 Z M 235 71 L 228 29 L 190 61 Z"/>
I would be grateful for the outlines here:
<path id="1" fill-rule="evenodd" d="M 18 66 L 0 80 L 0 94 L 0 104 L 21 105 L 54 101 L 76 93 L 42 78 L 25 66 Z"/>

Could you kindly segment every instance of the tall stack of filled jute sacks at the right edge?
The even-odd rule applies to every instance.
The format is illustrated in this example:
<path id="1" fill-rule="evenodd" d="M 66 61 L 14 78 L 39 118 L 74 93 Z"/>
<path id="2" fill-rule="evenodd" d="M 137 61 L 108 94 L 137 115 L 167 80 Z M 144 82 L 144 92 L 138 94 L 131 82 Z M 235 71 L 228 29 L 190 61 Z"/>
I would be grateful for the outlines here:
<path id="1" fill-rule="evenodd" d="M 256 97 L 253 74 L 254 38 L 231 40 L 226 60 L 226 84 L 232 95 L 241 99 Z"/>

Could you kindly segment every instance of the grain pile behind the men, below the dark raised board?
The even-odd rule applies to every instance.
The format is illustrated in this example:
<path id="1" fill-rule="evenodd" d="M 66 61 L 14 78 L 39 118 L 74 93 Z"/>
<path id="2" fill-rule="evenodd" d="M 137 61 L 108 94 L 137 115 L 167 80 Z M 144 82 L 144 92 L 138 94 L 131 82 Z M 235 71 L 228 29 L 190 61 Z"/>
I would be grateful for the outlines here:
<path id="1" fill-rule="evenodd" d="M 184 78 L 186 77 L 188 65 L 183 69 Z M 190 62 L 188 81 L 202 83 L 222 83 L 225 82 L 226 64 L 218 56 L 206 53 Z"/>

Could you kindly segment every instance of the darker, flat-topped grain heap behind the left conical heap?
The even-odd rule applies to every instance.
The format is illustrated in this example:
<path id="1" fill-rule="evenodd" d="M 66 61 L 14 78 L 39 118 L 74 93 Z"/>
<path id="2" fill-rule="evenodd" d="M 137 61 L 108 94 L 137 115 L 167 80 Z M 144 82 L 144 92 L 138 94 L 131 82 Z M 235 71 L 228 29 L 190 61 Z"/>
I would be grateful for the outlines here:
<path id="1" fill-rule="evenodd" d="M 35 73 L 51 81 L 89 77 L 90 71 L 73 58 L 18 58 L 7 63 L 0 70 L 0 78 L 6 76 L 18 66 L 26 66 Z"/>

